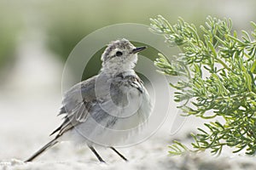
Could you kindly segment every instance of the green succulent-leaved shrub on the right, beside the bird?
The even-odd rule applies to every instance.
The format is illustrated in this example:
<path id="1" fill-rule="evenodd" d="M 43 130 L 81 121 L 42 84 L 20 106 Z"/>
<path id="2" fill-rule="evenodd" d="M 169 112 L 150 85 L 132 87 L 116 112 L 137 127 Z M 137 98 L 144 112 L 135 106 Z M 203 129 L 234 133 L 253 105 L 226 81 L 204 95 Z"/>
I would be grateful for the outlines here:
<path id="1" fill-rule="evenodd" d="M 183 103 L 179 108 L 185 115 L 212 120 L 191 134 L 194 151 L 220 154 L 224 146 L 249 155 L 256 151 L 256 24 L 252 26 L 251 35 L 241 31 L 239 39 L 231 20 L 209 16 L 198 31 L 181 18 L 174 26 L 162 16 L 151 19 L 152 31 L 183 50 L 172 62 L 163 54 L 155 60 L 160 72 L 181 77 L 171 83 L 175 101 Z M 172 155 L 189 150 L 177 141 L 170 147 Z"/>

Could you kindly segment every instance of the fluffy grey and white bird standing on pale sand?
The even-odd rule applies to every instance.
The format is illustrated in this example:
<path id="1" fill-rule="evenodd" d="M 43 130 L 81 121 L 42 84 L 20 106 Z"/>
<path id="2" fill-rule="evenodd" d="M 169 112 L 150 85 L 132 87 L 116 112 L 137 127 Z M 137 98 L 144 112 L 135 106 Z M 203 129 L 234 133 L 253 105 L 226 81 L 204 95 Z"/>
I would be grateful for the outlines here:
<path id="1" fill-rule="evenodd" d="M 99 73 L 64 94 L 59 112 L 63 122 L 50 133 L 55 138 L 25 162 L 67 140 L 87 145 L 100 162 L 105 161 L 95 150 L 96 145 L 107 147 L 128 161 L 114 146 L 131 133 L 138 133 L 140 128 L 134 129 L 147 124 L 153 108 L 143 81 L 134 71 L 137 54 L 145 48 L 135 47 L 125 38 L 109 42 L 102 53 Z"/>

